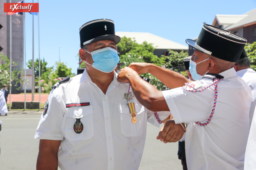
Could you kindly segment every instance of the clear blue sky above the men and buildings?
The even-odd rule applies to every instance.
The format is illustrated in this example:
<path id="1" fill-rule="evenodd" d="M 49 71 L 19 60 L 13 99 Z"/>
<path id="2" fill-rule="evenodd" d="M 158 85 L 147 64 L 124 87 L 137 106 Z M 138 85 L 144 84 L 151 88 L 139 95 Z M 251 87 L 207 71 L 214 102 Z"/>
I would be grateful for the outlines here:
<path id="1" fill-rule="evenodd" d="M 32 0 L 25 0 L 32 3 Z M 34 0 L 37 3 L 37 0 Z M 79 66 L 79 28 L 91 20 L 107 18 L 115 31 L 149 32 L 187 45 L 203 22 L 212 24 L 216 14 L 241 15 L 256 8 L 255 0 L 39 0 L 40 58 L 48 67 L 64 62 L 72 72 Z M 26 17 L 26 60 L 32 59 L 32 15 Z M 38 16 L 34 16 L 34 58 L 39 56 Z"/>

